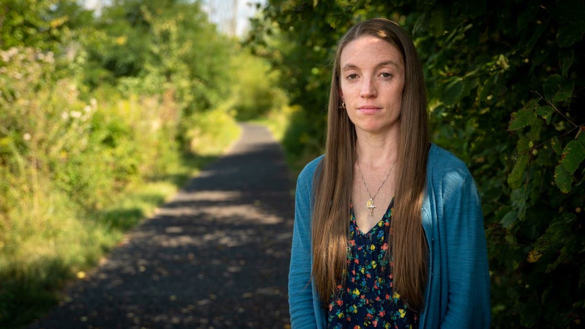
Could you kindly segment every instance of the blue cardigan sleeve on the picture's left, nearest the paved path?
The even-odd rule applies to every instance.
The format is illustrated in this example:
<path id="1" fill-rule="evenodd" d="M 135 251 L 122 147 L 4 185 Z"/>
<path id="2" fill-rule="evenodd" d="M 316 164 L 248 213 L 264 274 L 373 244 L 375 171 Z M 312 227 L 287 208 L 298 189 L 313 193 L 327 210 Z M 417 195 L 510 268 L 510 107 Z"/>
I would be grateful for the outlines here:
<path id="1" fill-rule="evenodd" d="M 288 304 L 293 329 L 317 327 L 311 283 L 311 176 L 310 170 L 301 172 L 295 194 L 295 218 L 288 272 Z"/>

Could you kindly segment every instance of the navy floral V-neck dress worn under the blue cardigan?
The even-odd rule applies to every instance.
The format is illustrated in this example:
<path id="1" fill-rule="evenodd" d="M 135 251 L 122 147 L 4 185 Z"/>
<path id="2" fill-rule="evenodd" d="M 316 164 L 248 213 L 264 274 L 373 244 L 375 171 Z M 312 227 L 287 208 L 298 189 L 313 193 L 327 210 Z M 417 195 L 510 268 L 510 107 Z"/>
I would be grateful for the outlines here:
<path id="1" fill-rule="evenodd" d="M 328 328 L 418 328 L 418 314 L 408 309 L 400 294 L 393 292 L 386 235 L 394 199 L 384 217 L 370 232 L 356 224 L 350 205 L 345 286 L 329 299 Z"/>

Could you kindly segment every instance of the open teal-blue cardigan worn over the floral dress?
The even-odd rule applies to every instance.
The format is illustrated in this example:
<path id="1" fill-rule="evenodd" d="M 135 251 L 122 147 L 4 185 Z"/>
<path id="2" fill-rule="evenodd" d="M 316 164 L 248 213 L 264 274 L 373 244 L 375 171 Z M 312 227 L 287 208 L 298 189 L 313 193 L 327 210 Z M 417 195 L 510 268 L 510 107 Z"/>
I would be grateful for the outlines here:
<path id="1" fill-rule="evenodd" d="M 288 303 L 293 329 L 326 328 L 326 310 L 311 281 L 312 184 L 323 156 L 298 176 Z M 429 276 L 419 328 L 488 328 L 490 276 L 480 198 L 465 164 L 434 144 L 426 165 L 422 226 Z"/>

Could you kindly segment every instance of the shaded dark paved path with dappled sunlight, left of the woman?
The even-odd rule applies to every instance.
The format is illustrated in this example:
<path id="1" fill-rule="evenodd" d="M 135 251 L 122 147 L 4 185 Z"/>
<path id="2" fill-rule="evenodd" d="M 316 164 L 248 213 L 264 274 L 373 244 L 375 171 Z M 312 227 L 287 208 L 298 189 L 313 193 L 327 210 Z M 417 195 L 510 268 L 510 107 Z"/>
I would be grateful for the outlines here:
<path id="1" fill-rule="evenodd" d="M 285 328 L 294 204 L 269 131 L 239 142 L 30 328 Z"/>

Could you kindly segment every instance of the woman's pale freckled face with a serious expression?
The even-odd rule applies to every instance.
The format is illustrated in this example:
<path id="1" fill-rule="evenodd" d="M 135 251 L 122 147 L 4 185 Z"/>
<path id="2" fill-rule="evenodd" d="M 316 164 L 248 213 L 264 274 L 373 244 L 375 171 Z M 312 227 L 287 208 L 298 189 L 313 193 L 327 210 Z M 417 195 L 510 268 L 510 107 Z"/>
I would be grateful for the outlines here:
<path id="1" fill-rule="evenodd" d="M 339 93 L 358 136 L 397 134 L 404 89 L 398 48 L 378 37 L 360 37 L 343 48 L 340 68 Z"/>

